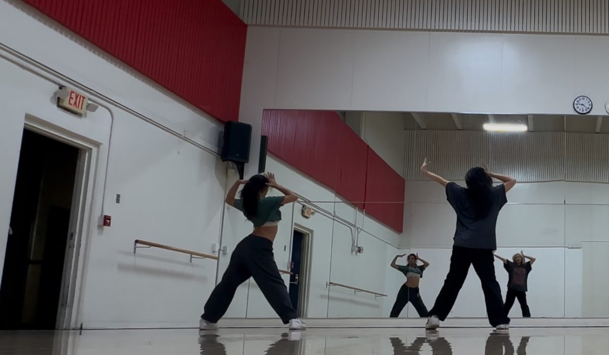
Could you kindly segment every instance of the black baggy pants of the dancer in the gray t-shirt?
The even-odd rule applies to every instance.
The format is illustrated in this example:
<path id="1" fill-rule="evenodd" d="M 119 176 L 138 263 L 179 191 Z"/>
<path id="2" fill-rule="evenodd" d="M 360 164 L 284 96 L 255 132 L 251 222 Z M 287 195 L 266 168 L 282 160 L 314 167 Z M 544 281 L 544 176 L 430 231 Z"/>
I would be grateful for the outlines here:
<path id="1" fill-rule="evenodd" d="M 434 308 L 429 311 L 429 315 L 436 315 L 440 320 L 445 320 L 454 306 L 459 295 L 459 290 L 465 282 L 470 265 L 474 265 L 482 292 L 487 306 L 488 322 L 491 326 L 509 324 L 510 318 L 505 315 L 501 288 L 495 278 L 495 259 L 493 251 L 490 249 L 476 249 L 452 247 L 451 265 L 448 275 L 444 281 L 444 286 L 435 300 Z"/>

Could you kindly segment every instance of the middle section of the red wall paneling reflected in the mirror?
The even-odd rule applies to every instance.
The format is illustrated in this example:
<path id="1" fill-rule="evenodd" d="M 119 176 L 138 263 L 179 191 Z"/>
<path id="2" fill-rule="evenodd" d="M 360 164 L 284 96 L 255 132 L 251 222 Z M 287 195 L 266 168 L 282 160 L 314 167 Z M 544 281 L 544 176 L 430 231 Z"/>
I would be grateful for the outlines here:
<path id="1" fill-rule="evenodd" d="M 338 170 L 336 193 L 364 208 L 366 198 L 366 167 L 368 145 L 344 122 L 338 130 Z"/>

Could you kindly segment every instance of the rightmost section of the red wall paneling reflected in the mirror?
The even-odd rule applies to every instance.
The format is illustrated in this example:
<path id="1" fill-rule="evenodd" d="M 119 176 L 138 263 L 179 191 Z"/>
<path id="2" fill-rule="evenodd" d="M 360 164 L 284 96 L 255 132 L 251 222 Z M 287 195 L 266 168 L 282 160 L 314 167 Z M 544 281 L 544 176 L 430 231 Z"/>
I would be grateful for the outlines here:
<path id="1" fill-rule="evenodd" d="M 366 214 L 399 233 L 403 230 L 404 222 L 404 184 L 404 178 L 368 147 Z"/>

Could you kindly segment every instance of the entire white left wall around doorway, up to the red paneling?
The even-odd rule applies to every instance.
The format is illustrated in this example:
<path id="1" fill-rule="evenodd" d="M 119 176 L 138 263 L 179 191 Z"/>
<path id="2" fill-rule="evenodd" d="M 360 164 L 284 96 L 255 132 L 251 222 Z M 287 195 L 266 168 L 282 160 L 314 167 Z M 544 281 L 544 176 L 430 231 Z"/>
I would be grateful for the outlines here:
<path id="1" fill-rule="evenodd" d="M 99 149 L 91 167 L 89 228 L 79 236 L 82 264 L 72 326 L 194 325 L 215 284 L 216 262 L 191 264 L 186 255 L 153 249 L 134 256 L 132 247 L 134 239 L 144 239 L 210 253 L 219 241 L 226 172 L 203 147 L 217 150 L 220 125 L 21 2 L 0 1 L 0 42 L 10 48 L 3 56 L 19 60 L 10 54 L 16 51 L 51 68 L 48 73 L 33 69 L 37 75 L 0 59 L 5 107 L 0 230 L 8 229 L 21 131 L 29 114 Z M 86 91 L 108 109 L 83 119 L 59 110 L 52 100 L 59 83 Z M 97 217 L 104 186 L 104 211 L 113 225 L 102 229 Z M 115 194 L 121 194 L 120 204 L 114 203 Z M 5 235 L 0 234 L 0 262 Z"/>

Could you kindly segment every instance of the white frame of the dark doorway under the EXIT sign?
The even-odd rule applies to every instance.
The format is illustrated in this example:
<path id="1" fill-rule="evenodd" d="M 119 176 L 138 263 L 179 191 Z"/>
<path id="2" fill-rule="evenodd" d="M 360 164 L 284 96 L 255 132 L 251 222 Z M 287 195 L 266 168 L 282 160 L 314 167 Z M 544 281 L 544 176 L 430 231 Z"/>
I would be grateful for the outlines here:
<path id="1" fill-rule="evenodd" d="M 83 267 L 85 258 L 81 254 L 85 248 L 81 247 L 88 239 L 88 231 L 94 223 L 93 191 L 96 177 L 95 167 L 99 160 L 100 147 L 97 142 L 57 127 L 31 114 L 26 114 L 23 128 L 79 149 L 74 191 L 72 192 L 69 234 L 66 236 L 68 242 L 63 262 L 60 304 L 55 322 L 55 329 L 70 329 L 74 328 L 72 322 L 76 316 L 74 304 L 80 303 L 80 292 L 76 292 L 76 290 L 82 286 L 82 277 L 78 277 L 78 271 Z"/>

